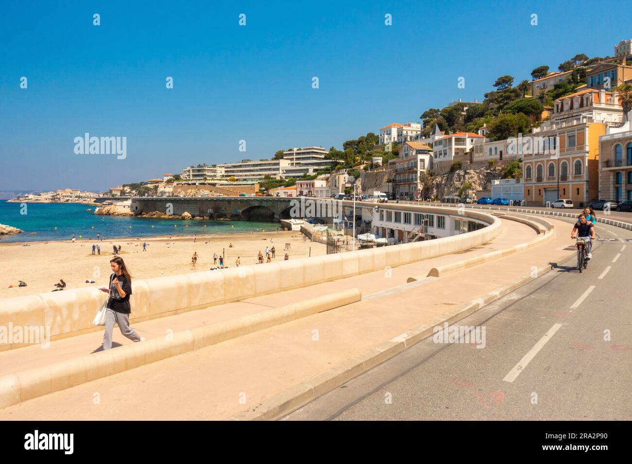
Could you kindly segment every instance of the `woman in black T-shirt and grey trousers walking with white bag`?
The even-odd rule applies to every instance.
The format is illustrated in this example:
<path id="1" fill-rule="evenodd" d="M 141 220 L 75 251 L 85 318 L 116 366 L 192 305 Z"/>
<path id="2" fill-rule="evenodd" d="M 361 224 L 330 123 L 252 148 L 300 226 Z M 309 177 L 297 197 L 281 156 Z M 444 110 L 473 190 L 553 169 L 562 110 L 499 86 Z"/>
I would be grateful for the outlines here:
<path id="1" fill-rule="evenodd" d="M 109 289 L 102 288 L 102 292 L 109 293 L 106 310 L 106 331 L 103 334 L 103 349 L 112 348 L 112 331 L 114 324 L 118 324 L 121 333 L 133 340 L 142 342 L 145 338 L 130 327 L 130 295 L 131 295 L 131 275 L 125 266 L 123 258 L 116 256 L 110 259 L 112 275 L 110 276 Z"/>

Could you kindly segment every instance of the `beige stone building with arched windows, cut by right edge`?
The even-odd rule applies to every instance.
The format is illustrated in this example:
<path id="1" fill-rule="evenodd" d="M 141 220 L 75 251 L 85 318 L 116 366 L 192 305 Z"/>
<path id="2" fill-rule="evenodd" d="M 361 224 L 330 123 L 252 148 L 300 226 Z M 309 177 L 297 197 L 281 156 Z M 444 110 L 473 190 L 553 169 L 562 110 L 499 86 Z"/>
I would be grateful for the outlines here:
<path id="1" fill-rule="evenodd" d="M 632 200 L 632 111 L 621 127 L 599 137 L 599 198 Z"/>

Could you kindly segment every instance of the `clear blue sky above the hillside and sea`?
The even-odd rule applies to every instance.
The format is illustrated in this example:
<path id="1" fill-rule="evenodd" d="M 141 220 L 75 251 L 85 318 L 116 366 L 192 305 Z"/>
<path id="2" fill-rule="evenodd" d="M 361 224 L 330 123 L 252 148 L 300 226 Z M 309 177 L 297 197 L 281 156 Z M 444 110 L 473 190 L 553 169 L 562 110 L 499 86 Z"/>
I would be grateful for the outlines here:
<path id="1" fill-rule="evenodd" d="M 0 190 L 103 190 L 291 146 L 341 148 L 430 107 L 480 101 L 502 74 L 520 81 L 577 53 L 614 54 L 632 31 L 594 11 L 583 1 L 3 1 Z M 126 136 L 127 158 L 76 155 L 85 132 Z"/>

